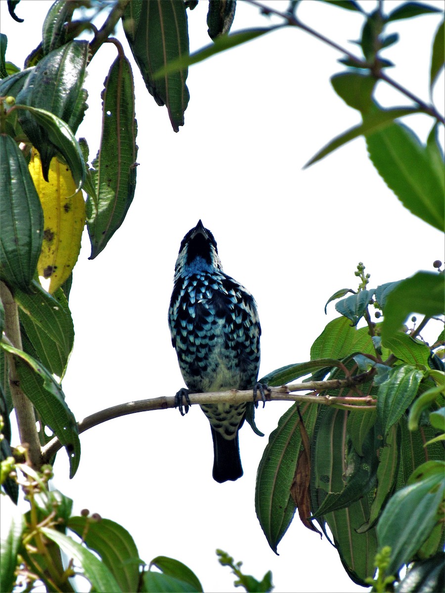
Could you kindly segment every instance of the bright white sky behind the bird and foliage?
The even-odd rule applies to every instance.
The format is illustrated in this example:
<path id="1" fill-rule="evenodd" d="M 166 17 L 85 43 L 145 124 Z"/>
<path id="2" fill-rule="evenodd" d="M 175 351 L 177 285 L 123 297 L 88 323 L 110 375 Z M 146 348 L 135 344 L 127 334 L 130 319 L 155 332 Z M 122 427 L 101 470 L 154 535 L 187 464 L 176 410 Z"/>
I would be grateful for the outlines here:
<path id="1" fill-rule="evenodd" d="M 400 2 L 386 1 L 389 11 Z M 443 8 L 443 2 L 430 5 Z M 22 1 L 9 18 L 0 1 L 7 60 L 23 60 L 40 40 L 51 2 Z M 274 2 L 285 9 L 287 2 Z M 371 11 L 373 0 L 361 2 Z M 189 12 L 190 49 L 209 43 L 207 2 Z M 361 17 L 305 0 L 304 23 L 345 46 L 358 39 Z M 258 9 L 239 2 L 233 30 L 265 25 Z M 398 21 L 400 42 L 384 56 L 397 67 L 389 74 L 428 100 L 431 39 L 440 16 Z M 122 31 L 119 38 L 125 47 Z M 355 46 L 349 49 L 357 52 Z M 127 51 L 127 50 L 126 50 Z M 74 270 L 70 307 L 74 352 L 63 380 L 66 400 L 78 419 L 104 407 L 173 395 L 183 386 L 171 347 L 167 310 L 174 262 L 183 235 L 201 218 L 218 242 L 224 271 L 243 283 L 258 302 L 262 325 L 260 375 L 309 359 L 313 341 L 338 315 L 326 300 L 339 288 L 357 288 L 359 261 L 371 287 L 432 270 L 443 260 L 443 237 L 411 215 L 387 189 L 368 161 L 363 139 L 303 171 L 330 139 L 360 122 L 357 111 L 333 92 L 329 77 L 343 66 L 339 53 L 302 31 L 276 31 L 246 46 L 190 68 L 185 126 L 175 134 L 166 108 L 145 90 L 132 56 L 138 120 L 138 178 L 134 202 L 122 227 L 96 260 L 88 261 L 84 235 Z M 100 91 L 116 50 L 101 48 L 88 68 L 90 93 L 78 136 L 94 157 L 100 139 Z M 399 66 L 400 64 L 400 66 Z M 443 109 L 443 73 L 434 98 Z M 384 105 L 409 104 L 379 84 Z M 406 119 L 423 140 L 432 122 Z M 425 338 L 434 340 L 438 330 Z M 354 592 L 336 550 L 297 518 L 276 556 L 255 515 L 256 468 L 269 433 L 289 404 L 269 403 L 240 432 L 244 476 L 212 480 L 213 450 L 208 422 L 197 407 L 112 420 L 81 435 L 82 458 L 73 480 L 59 452 L 55 485 L 82 508 L 122 524 L 147 563 L 158 555 L 190 566 L 205 591 L 234 591 L 234 576 L 215 549 L 243 561 L 261 579 L 271 569 L 275 591 Z"/>

